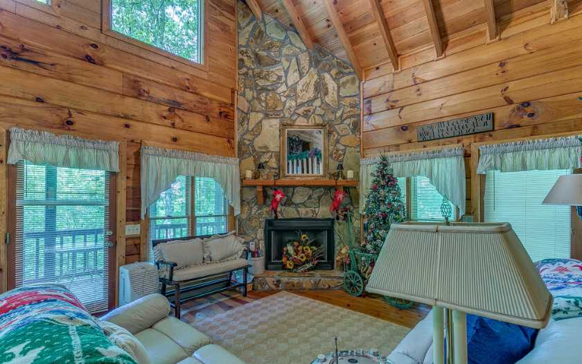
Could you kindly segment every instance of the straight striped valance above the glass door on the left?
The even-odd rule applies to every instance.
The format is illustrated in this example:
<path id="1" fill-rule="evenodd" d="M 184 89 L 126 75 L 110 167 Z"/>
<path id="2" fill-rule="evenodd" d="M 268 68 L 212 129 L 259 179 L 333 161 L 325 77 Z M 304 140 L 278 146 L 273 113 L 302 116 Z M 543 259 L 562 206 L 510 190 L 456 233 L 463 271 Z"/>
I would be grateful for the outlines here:
<path id="1" fill-rule="evenodd" d="M 11 128 L 8 164 L 25 160 L 56 167 L 118 172 L 119 143 Z"/>

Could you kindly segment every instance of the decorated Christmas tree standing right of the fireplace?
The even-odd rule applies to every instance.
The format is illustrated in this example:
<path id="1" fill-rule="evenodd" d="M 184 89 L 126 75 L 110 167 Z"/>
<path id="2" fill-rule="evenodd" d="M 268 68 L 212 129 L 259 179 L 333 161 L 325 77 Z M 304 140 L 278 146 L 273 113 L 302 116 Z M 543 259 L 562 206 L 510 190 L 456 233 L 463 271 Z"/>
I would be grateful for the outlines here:
<path id="1" fill-rule="evenodd" d="M 370 193 L 366 197 L 366 250 L 378 253 L 386 239 L 391 223 L 405 220 L 405 207 L 400 199 L 400 187 L 394 170 L 385 155 L 380 156 Z"/>

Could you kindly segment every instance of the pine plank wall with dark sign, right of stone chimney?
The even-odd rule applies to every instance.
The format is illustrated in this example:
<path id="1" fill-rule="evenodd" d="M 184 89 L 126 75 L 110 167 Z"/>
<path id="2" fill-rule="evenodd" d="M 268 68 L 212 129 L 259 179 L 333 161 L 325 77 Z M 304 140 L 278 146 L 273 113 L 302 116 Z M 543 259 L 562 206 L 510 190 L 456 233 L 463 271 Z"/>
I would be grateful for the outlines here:
<path id="1" fill-rule="evenodd" d="M 500 40 L 489 42 L 485 29 L 477 28 L 450 40 L 439 60 L 421 51 L 403 56 L 398 73 L 389 66 L 367 69 L 363 155 L 463 144 L 471 214 L 473 143 L 582 132 L 582 14 L 550 22 L 547 9 L 532 12 L 500 24 Z M 417 141 L 419 125 L 484 112 L 494 114 L 492 132 Z"/>

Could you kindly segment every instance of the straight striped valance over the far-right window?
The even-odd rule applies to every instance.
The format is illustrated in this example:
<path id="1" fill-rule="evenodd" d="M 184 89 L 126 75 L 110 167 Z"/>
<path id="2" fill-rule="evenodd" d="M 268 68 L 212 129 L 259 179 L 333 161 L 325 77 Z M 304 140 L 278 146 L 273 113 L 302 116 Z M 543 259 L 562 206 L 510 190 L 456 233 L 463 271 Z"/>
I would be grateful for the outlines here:
<path id="1" fill-rule="evenodd" d="M 580 168 L 582 145 L 579 138 L 558 137 L 480 146 L 477 173 Z"/>

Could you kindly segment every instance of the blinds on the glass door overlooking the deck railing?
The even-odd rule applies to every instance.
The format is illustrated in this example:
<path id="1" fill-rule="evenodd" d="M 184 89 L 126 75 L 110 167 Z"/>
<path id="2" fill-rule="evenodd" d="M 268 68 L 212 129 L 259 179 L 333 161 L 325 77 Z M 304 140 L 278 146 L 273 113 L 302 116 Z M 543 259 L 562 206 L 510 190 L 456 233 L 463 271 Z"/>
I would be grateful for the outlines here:
<path id="1" fill-rule="evenodd" d="M 109 290 L 109 173 L 17 164 L 15 286 L 67 286 L 90 312 Z"/>

